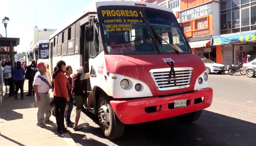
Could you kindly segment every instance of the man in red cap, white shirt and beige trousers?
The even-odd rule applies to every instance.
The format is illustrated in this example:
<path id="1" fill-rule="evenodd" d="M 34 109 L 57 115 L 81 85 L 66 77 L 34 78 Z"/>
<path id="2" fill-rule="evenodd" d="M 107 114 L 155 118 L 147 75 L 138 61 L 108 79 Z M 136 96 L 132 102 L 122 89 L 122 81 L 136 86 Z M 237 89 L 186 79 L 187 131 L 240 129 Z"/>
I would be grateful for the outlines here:
<path id="1" fill-rule="evenodd" d="M 51 106 L 50 106 L 50 81 L 48 80 L 45 72 L 46 65 L 42 62 L 37 64 L 38 72 L 34 77 L 33 89 L 36 93 L 35 99 L 38 106 L 37 111 L 37 126 L 44 127 L 45 124 L 51 124 L 49 118 L 51 116 Z"/>

